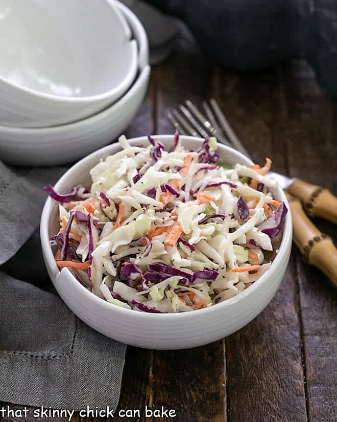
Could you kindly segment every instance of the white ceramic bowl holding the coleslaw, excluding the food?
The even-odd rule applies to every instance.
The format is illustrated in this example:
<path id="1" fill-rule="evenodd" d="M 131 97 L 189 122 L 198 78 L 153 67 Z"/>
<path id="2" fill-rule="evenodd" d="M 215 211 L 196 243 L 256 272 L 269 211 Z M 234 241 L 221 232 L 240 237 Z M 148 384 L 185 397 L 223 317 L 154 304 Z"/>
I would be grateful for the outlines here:
<path id="1" fill-rule="evenodd" d="M 156 136 L 166 147 L 173 143 L 173 136 Z M 196 149 L 200 138 L 181 137 L 183 145 Z M 129 141 L 131 145 L 148 145 L 147 137 Z M 58 192 L 68 192 L 83 183 L 90 186 L 89 170 L 100 159 L 120 150 L 118 144 L 109 145 L 84 158 L 71 167 L 57 182 Z M 221 161 L 229 164 L 252 162 L 234 149 L 219 145 Z M 272 189 L 278 201 L 288 202 L 280 187 Z M 125 309 L 104 301 L 87 291 L 67 268 L 61 272 L 56 266 L 49 239 L 59 230 L 58 204 L 47 198 L 41 216 L 41 245 L 44 262 L 53 284 L 73 312 L 90 327 L 112 339 L 139 347 L 153 349 L 182 349 L 200 346 L 219 340 L 242 328 L 264 309 L 274 296 L 283 278 L 292 245 L 292 220 L 288 212 L 279 251 L 270 269 L 238 295 L 193 312 L 179 314 L 148 314 Z"/>

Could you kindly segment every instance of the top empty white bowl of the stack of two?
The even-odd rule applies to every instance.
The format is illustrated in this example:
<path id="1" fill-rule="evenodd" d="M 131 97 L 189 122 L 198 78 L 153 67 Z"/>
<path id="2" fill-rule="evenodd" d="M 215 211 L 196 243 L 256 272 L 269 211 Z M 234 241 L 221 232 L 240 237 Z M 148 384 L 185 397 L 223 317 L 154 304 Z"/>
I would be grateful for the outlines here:
<path id="1" fill-rule="evenodd" d="M 113 0 L 0 0 L 0 21 L 2 125 L 83 119 L 136 76 L 136 41 Z"/>

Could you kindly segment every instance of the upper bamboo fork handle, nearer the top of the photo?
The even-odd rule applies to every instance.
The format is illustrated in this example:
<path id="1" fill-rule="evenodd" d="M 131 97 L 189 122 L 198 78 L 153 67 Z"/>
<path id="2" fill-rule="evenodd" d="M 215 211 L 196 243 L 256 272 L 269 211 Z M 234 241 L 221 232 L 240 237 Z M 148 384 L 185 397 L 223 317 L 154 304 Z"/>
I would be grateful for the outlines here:
<path id="1" fill-rule="evenodd" d="M 328 189 L 296 179 L 287 192 L 301 199 L 309 216 L 322 217 L 337 224 L 337 197 Z"/>

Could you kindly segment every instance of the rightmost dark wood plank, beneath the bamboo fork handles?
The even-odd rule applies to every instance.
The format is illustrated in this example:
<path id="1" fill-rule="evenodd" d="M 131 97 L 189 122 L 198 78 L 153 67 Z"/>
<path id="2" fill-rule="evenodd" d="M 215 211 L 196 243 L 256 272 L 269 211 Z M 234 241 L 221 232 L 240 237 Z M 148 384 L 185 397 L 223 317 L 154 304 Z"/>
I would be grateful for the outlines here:
<path id="1" fill-rule="evenodd" d="M 286 83 L 296 84 L 296 74 L 285 69 Z M 292 124 L 288 148 L 290 171 L 337 194 L 337 108 L 326 98 L 297 96 L 288 91 L 286 104 Z M 336 226 L 314 223 L 337 241 Z M 306 265 L 296 252 L 298 306 L 301 310 L 307 413 L 311 422 L 337 418 L 337 296 L 326 277 Z"/>

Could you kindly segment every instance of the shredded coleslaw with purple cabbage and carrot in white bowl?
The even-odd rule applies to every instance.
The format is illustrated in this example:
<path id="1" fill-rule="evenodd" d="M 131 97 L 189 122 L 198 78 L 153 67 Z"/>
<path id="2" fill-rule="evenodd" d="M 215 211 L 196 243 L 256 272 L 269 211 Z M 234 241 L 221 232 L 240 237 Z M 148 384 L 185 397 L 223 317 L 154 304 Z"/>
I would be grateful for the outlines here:
<path id="1" fill-rule="evenodd" d="M 45 190 L 59 203 L 52 237 L 58 268 L 93 294 L 149 313 L 222 302 L 268 271 L 287 209 L 273 199 L 271 160 L 260 167 L 219 163 L 214 137 L 171 150 L 149 136 L 90 170 L 90 190 Z"/>

